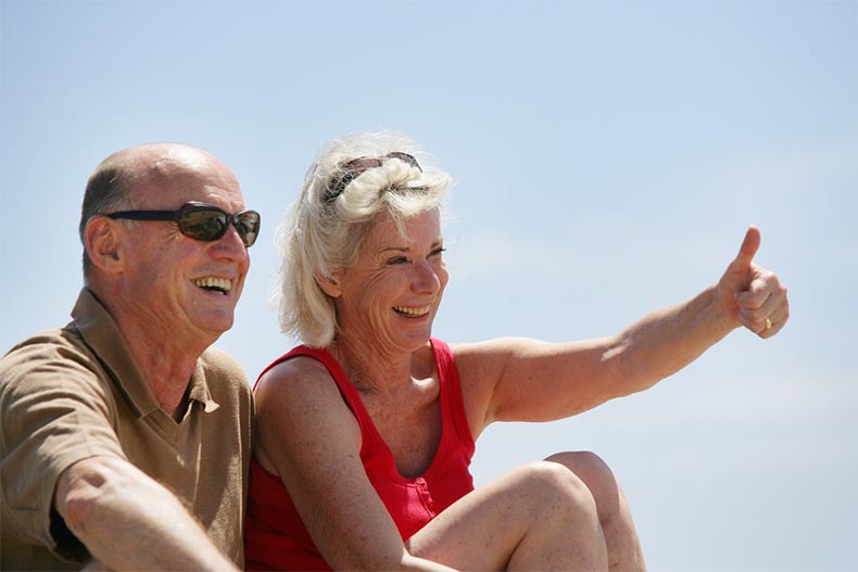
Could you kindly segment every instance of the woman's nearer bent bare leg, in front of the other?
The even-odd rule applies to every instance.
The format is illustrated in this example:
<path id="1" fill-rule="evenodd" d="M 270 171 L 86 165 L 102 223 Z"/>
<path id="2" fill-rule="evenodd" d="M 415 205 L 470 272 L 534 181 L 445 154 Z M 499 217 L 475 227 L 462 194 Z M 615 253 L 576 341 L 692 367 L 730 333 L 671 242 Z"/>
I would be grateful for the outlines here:
<path id="1" fill-rule="evenodd" d="M 607 570 L 593 495 L 557 462 L 474 491 L 415 534 L 413 556 L 459 570 Z"/>

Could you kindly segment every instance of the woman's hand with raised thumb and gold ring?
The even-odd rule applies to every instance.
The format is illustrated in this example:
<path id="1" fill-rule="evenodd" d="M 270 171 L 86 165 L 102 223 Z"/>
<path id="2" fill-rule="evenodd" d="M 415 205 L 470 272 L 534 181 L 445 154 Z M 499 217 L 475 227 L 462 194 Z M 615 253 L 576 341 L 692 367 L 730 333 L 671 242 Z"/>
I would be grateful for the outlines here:
<path id="1" fill-rule="evenodd" d="M 754 264 L 760 231 L 749 227 L 735 259 L 718 281 L 724 312 L 760 338 L 771 338 L 790 318 L 786 288 L 774 272 Z"/>

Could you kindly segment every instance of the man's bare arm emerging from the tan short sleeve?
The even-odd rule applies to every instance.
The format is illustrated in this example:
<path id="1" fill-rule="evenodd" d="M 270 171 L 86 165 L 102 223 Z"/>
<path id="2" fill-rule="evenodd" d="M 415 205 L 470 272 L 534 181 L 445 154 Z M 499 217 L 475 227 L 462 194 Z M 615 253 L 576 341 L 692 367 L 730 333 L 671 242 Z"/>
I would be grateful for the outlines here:
<path id="1" fill-rule="evenodd" d="M 121 459 L 90 457 L 60 474 L 68 530 L 112 570 L 237 570 L 164 486 Z"/>

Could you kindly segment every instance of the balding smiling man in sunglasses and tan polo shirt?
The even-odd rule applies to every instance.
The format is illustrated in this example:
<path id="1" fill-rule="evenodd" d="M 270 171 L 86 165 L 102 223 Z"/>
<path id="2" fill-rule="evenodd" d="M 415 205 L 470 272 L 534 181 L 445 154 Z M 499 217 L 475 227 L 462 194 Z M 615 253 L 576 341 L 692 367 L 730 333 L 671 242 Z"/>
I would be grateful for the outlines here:
<path id="1" fill-rule="evenodd" d="M 99 165 L 72 321 L 0 360 L 0 569 L 242 567 L 253 402 L 211 346 L 258 228 L 202 150 L 141 145 Z"/>

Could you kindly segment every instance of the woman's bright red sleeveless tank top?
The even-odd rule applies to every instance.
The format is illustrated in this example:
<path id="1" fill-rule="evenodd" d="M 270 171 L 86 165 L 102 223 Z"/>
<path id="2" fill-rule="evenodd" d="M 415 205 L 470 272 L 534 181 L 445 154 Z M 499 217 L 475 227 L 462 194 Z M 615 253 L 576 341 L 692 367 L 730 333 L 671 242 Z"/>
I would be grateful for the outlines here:
<path id="1" fill-rule="evenodd" d="M 453 353 L 440 340 L 432 339 L 431 344 L 441 382 L 441 443 L 426 473 L 413 480 L 396 470 L 393 453 L 364 408 L 357 390 L 327 351 L 298 346 L 260 374 L 295 356 L 310 356 L 325 365 L 357 419 L 362 435 L 361 460 L 403 541 L 474 490 L 469 470 L 474 438 L 465 416 Z M 250 472 L 244 560 L 248 570 L 330 570 L 301 522 L 282 481 L 255 460 L 251 462 Z"/>

